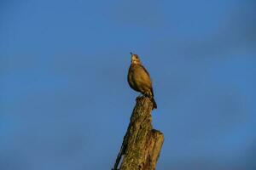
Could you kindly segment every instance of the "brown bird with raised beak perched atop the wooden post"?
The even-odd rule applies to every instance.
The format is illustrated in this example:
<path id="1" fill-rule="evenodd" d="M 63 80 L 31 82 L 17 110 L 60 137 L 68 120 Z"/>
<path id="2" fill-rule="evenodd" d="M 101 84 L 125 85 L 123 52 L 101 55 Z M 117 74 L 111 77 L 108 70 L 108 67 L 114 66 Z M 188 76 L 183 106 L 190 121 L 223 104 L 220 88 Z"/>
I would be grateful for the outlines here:
<path id="1" fill-rule="evenodd" d="M 153 103 L 153 109 L 157 108 L 154 100 L 154 91 L 152 81 L 148 71 L 143 66 L 141 59 L 137 54 L 131 54 L 131 65 L 129 67 L 127 80 L 130 87 L 148 97 Z"/>

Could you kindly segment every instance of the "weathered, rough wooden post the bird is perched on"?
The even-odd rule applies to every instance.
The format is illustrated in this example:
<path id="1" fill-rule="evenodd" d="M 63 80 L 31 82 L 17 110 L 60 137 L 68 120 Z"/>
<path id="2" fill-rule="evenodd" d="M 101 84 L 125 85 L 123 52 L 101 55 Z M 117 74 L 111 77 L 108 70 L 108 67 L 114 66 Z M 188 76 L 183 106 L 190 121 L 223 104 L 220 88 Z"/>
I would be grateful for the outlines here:
<path id="1" fill-rule="evenodd" d="M 152 127 L 153 105 L 147 97 L 137 98 L 131 122 L 113 170 L 154 170 L 164 135 Z M 122 159 L 123 158 L 123 159 Z M 119 161 L 122 162 L 119 166 Z"/>

